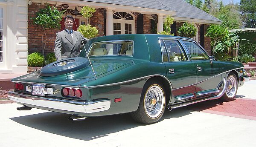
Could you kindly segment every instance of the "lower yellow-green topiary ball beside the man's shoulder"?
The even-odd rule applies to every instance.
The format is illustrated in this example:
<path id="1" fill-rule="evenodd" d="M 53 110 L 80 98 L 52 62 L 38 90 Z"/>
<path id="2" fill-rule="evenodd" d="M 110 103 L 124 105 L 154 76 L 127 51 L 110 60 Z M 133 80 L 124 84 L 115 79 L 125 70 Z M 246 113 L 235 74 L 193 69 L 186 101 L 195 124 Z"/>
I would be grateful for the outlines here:
<path id="1" fill-rule="evenodd" d="M 77 31 L 79 31 L 84 37 L 88 39 L 98 36 L 98 30 L 95 26 L 80 25 Z"/>

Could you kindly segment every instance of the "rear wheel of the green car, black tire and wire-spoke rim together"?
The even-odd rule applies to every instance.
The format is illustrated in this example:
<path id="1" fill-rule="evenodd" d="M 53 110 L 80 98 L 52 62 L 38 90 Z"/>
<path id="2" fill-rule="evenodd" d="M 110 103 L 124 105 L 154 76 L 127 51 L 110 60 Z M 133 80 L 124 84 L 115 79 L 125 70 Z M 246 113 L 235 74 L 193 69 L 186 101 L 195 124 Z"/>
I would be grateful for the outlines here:
<path id="1" fill-rule="evenodd" d="M 163 116 L 166 107 L 166 94 L 163 85 L 157 81 L 149 81 L 144 87 L 140 97 L 140 104 L 131 116 L 135 121 L 143 124 L 152 124 Z"/>

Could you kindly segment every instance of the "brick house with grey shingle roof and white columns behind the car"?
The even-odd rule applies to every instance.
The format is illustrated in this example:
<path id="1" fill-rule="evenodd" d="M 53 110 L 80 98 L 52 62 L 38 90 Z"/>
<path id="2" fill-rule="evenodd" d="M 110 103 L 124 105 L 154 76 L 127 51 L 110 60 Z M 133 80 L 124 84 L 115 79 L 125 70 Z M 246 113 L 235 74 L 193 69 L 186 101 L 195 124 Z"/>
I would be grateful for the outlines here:
<path id="1" fill-rule="evenodd" d="M 88 22 L 96 26 L 99 36 L 160 32 L 164 18 L 171 15 L 175 19 L 172 33 L 178 35 L 185 21 L 193 23 L 198 30 L 194 39 L 207 52 L 211 49 L 206 30 L 210 24 L 221 23 L 183 0 L 0 0 L 0 73 L 26 73 L 28 53 L 41 52 L 44 33 L 32 24 L 31 17 L 47 4 L 66 10 L 63 17 L 72 14 L 78 26 Z M 89 20 L 79 13 L 82 6 L 96 8 Z M 46 53 L 53 52 L 59 31 L 47 30 Z"/>

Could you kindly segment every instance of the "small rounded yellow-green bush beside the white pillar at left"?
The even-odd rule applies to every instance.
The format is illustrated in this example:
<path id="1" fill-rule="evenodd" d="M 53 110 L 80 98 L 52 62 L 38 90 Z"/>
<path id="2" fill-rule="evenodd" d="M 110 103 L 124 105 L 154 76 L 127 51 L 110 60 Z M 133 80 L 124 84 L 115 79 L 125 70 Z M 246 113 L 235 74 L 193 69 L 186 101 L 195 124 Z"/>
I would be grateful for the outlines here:
<path id="1" fill-rule="evenodd" d="M 28 56 L 28 66 L 44 66 L 44 56 L 34 52 Z"/>

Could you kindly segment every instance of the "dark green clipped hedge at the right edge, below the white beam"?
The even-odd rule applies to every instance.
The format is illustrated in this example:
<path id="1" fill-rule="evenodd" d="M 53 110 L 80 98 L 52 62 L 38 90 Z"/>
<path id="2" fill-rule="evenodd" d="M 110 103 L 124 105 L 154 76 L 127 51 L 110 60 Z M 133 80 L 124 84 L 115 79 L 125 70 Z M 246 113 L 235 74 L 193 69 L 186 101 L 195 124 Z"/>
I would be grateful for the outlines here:
<path id="1" fill-rule="evenodd" d="M 255 55 L 256 53 L 256 44 L 253 43 L 239 43 L 238 55 Z"/>

